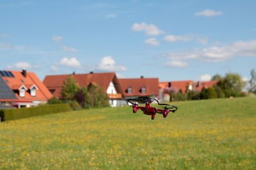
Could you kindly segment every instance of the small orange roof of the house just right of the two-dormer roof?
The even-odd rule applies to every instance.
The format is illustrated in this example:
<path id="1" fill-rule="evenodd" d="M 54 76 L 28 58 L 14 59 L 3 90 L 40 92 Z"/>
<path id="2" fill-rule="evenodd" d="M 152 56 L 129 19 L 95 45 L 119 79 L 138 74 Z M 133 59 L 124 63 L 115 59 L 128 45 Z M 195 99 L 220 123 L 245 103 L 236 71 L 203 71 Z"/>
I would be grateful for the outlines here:
<path id="1" fill-rule="evenodd" d="M 191 85 L 193 80 L 184 80 L 184 81 L 161 81 L 159 82 L 159 87 L 161 89 L 170 89 L 175 92 L 179 92 L 181 89 L 182 92 L 186 92 L 188 85 Z M 169 87 L 170 86 L 170 87 Z"/>

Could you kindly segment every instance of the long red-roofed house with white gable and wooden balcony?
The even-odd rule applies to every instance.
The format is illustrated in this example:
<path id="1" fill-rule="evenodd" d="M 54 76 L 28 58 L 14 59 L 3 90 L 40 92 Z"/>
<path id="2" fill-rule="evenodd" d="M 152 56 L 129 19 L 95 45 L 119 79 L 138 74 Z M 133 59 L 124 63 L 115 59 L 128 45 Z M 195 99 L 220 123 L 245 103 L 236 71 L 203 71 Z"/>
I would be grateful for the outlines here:
<path id="1" fill-rule="evenodd" d="M 109 104 L 112 107 L 119 106 L 123 98 L 122 88 L 115 73 L 89 73 L 89 74 L 63 74 L 45 76 L 44 84 L 52 96 L 61 99 L 61 86 L 63 82 L 72 76 L 79 87 L 88 87 L 90 84 L 99 85 L 109 97 Z"/>

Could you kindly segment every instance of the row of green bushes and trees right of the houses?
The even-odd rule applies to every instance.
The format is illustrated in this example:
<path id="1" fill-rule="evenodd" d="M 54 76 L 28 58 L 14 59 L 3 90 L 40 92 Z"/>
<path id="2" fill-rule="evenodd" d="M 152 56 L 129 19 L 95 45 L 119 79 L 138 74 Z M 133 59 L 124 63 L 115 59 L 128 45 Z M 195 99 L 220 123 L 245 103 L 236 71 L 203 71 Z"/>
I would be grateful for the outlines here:
<path id="1" fill-rule="evenodd" d="M 246 84 L 242 77 L 237 73 L 227 73 L 225 76 L 215 74 L 211 80 L 216 80 L 218 83 L 213 87 L 203 87 L 199 90 L 186 90 L 182 93 L 170 92 L 170 101 L 184 101 L 184 100 L 199 100 L 199 99 L 214 99 L 223 97 L 242 97 L 245 96 L 242 92 Z"/>

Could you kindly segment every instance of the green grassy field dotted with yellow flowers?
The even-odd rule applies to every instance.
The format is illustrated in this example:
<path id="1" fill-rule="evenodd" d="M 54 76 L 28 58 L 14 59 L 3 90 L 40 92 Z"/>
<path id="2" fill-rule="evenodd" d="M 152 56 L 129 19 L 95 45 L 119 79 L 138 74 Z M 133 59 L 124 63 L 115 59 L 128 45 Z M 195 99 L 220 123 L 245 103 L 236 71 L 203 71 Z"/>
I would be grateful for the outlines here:
<path id="1" fill-rule="evenodd" d="M 256 98 L 101 108 L 0 123 L 0 169 L 256 169 Z"/>

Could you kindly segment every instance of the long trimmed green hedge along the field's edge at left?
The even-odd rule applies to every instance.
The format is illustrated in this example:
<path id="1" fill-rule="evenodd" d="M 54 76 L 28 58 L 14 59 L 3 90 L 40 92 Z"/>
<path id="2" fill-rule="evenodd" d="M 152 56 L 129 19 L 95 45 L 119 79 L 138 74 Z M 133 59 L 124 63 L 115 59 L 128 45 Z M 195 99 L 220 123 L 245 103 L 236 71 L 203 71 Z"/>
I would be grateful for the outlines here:
<path id="1" fill-rule="evenodd" d="M 0 110 L 1 121 L 16 120 L 20 118 L 36 117 L 39 115 L 49 115 L 71 111 L 69 104 L 51 104 L 36 106 L 33 108 L 6 109 Z"/>

